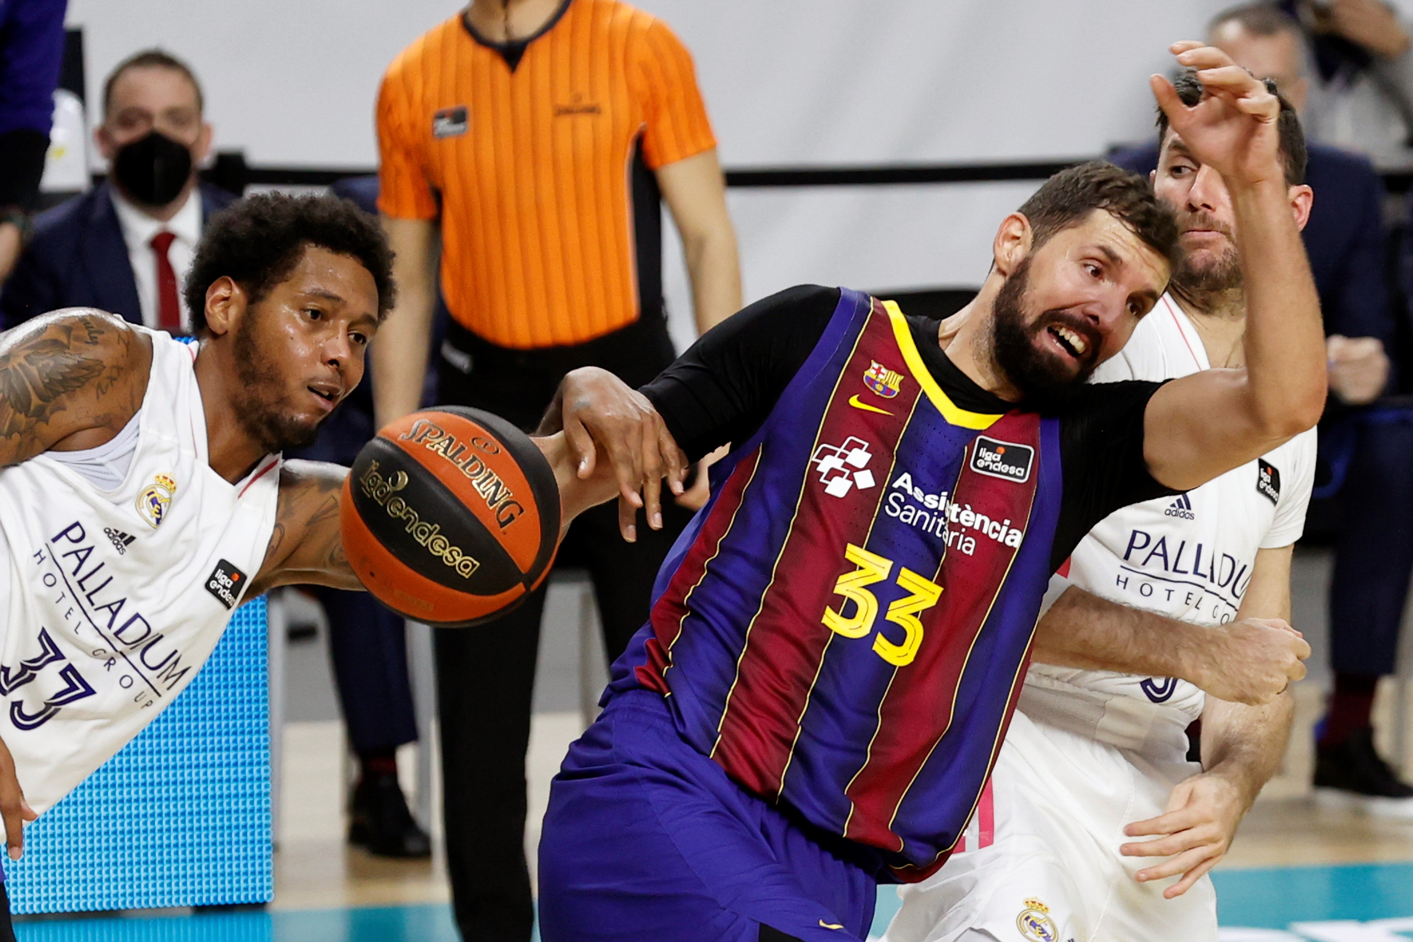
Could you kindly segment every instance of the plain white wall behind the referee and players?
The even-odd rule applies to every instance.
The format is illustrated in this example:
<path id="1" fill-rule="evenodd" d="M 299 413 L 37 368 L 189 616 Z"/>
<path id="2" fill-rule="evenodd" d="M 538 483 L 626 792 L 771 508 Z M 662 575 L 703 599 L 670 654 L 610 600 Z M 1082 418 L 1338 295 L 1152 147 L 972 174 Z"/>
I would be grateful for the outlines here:
<path id="1" fill-rule="evenodd" d="M 1084 157 L 1147 136 L 1146 76 L 1231 0 L 637 0 L 692 49 L 728 167 Z M 1400 0 L 1413 6 L 1413 0 Z M 456 0 L 71 0 L 89 100 L 161 45 L 252 164 L 373 167 L 387 62 Z M 733 191 L 746 297 L 976 284 L 1026 184 Z M 670 249 L 671 251 L 671 249 Z M 688 335 L 685 282 L 667 270 Z"/>

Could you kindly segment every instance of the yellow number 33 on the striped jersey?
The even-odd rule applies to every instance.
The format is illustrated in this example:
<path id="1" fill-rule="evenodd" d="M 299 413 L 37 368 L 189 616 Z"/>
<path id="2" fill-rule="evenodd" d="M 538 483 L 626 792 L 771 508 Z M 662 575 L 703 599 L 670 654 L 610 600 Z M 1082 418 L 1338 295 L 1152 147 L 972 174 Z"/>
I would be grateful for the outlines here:
<path id="1" fill-rule="evenodd" d="M 873 623 L 879 617 L 879 600 L 869 592 L 869 586 L 889 578 L 889 573 L 893 572 L 893 561 L 869 552 L 863 547 L 855 547 L 852 542 L 845 548 L 844 558 L 858 569 L 839 576 L 834 583 L 834 592 L 853 603 L 853 614 L 842 614 L 846 607 L 844 604 L 839 606 L 839 612 L 827 606 L 821 620 L 831 631 L 846 638 L 862 638 L 873 631 Z M 907 667 L 923 645 L 923 623 L 917 616 L 937 604 L 937 600 L 942 597 L 942 588 L 907 566 L 899 566 L 897 585 L 910 595 L 889 604 L 883 619 L 903 628 L 903 644 L 894 644 L 879 633 L 873 638 L 873 650 L 889 664 Z"/>

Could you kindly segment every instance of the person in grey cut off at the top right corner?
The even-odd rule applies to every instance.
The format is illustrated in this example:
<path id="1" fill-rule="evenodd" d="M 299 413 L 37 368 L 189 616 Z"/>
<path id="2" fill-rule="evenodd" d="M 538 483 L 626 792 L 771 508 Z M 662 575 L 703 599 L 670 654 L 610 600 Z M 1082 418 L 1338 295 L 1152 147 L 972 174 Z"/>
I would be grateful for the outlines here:
<path id="1" fill-rule="evenodd" d="M 1282 0 L 1311 64 L 1303 116 L 1311 137 L 1368 154 L 1381 169 L 1413 168 L 1410 25 L 1382 0 Z"/>

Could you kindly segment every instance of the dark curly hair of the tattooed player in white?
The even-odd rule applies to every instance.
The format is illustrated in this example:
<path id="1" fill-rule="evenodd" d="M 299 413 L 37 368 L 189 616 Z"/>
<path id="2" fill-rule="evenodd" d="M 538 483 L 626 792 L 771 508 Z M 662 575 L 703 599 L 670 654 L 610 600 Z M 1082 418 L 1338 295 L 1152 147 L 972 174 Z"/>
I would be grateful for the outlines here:
<path id="1" fill-rule="evenodd" d="M 338 196 L 257 193 L 211 217 L 184 285 L 192 330 L 206 329 L 206 290 L 229 277 L 256 304 L 290 277 L 307 249 L 349 256 L 377 287 L 379 322 L 393 309 L 393 250 L 373 216 Z"/>

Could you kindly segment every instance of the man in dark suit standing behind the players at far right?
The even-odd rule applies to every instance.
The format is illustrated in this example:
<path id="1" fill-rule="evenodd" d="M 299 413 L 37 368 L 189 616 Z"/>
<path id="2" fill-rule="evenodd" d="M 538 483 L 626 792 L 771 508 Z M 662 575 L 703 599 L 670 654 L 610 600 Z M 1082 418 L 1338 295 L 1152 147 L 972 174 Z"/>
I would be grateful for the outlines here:
<path id="1" fill-rule="evenodd" d="M 1218 14 L 1208 41 L 1252 73 L 1275 79 L 1303 112 L 1310 90 L 1304 35 L 1276 4 Z M 1146 174 L 1157 153 L 1133 148 L 1112 160 Z M 1393 672 L 1413 573 L 1413 414 L 1369 408 L 1389 386 L 1386 350 L 1395 333 L 1385 281 L 1383 184 L 1366 157 L 1314 141 L 1306 182 L 1314 206 L 1303 234 L 1324 314 L 1332 393 L 1320 456 L 1342 479 L 1344 510 L 1330 585 L 1334 692 L 1320 729 L 1314 784 L 1327 797 L 1413 815 L 1413 788 L 1375 751 L 1369 719 L 1379 676 Z"/>

